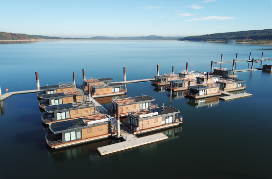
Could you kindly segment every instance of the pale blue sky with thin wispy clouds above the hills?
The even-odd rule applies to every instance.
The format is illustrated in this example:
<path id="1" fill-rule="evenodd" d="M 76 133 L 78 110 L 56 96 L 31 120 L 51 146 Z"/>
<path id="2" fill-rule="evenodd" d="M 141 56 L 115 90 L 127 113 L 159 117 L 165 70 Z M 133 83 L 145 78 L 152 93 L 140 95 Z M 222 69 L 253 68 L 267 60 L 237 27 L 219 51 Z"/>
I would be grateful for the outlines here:
<path id="1" fill-rule="evenodd" d="M 1 0 L 0 31 L 56 37 L 194 36 L 272 28 L 272 0 Z"/>

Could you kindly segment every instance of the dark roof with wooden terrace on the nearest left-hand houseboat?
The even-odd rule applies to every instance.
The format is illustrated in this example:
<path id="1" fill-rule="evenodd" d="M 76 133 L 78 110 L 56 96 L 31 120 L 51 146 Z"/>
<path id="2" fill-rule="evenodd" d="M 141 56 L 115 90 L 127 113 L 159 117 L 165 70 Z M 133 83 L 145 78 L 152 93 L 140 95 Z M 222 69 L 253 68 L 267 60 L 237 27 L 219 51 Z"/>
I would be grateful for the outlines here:
<path id="1" fill-rule="evenodd" d="M 107 119 L 103 122 L 100 122 L 104 119 Z M 88 122 L 90 121 L 97 121 L 98 123 L 94 123 L 91 125 L 88 125 Z M 84 117 L 84 118 L 78 118 L 78 119 L 73 119 L 73 120 L 68 120 L 68 121 L 60 121 L 57 123 L 51 123 L 49 125 L 50 130 L 54 133 L 54 134 L 59 134 L 62 132 L 69 132 L 69 131 L 75 131 L 75 129 L 84 129 L 84 128 L 90 128 L 94 127 L 94 126 L 100 126 L 105 122 L 109 122 L 108 118 L 103 115 L 103 114 L 96 114 L 96 115 L 91 115 L 88 117 Z"/>

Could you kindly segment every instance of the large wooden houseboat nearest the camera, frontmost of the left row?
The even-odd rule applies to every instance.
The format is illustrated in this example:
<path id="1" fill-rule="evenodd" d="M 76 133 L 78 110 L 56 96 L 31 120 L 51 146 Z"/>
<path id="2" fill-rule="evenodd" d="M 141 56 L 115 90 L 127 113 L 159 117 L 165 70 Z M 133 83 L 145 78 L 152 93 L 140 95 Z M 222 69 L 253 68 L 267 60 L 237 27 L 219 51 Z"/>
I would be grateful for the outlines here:
<path id="1" fill-rule="evenodd" d="M 111 119 L 104 114 L 52 123 L 49 129 L 45 138 L 51 148 L 74 145 L 113 134 Z"/>

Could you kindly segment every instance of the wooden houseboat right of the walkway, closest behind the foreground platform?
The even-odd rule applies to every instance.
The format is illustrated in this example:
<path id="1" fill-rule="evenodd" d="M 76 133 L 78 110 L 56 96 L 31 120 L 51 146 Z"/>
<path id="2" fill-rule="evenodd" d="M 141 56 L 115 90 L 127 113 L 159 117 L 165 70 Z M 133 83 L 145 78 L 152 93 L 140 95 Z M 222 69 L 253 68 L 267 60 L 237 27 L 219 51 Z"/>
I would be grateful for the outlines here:
<path id="1" fill-rule="evenodd" d="M 180 111 L 171 106 L 130 112 L 124 124 L 133 134 L 176 126 L 182 123 Z"/>

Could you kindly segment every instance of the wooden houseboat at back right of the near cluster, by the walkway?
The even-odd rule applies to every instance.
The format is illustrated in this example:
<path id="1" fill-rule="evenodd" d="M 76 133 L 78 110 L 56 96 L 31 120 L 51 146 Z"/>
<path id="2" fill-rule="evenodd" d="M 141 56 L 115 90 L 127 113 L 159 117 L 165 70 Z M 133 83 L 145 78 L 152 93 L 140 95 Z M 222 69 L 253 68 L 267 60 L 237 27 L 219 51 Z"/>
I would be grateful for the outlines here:
<path id="1" fill-rule="evenodd" d="M 91 89 L 91 95 L 93 98 L 122 95 L 127 93 L 127 89 L 124 88 L 124 84 L 122 83 L 91 85 Z"/>

